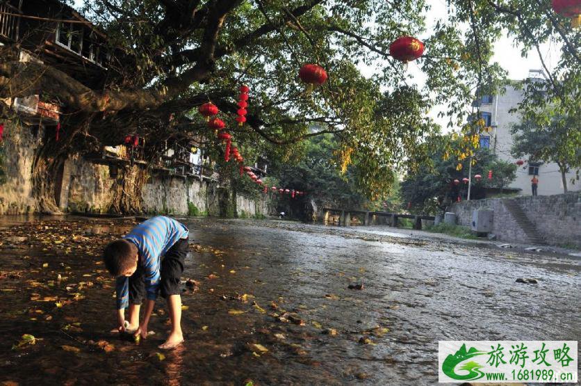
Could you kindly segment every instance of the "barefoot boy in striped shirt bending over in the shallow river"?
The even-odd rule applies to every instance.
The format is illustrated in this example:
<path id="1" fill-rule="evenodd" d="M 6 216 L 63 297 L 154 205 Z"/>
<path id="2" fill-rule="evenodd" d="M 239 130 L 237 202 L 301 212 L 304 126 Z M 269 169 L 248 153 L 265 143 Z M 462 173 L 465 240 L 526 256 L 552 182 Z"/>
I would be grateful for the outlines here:
<path id="1" fill-rule="evenodd" d="M 170 349 L 183 342 L 180 279 L 188 254 L 188 233 L 186 225 L 173 218 L 156 216 L 106 246 L 105 266 L 117 278 L 117 330 L 145 339 L 149 317 L 161 292 L 167 301 L 172 330 L 159 348 Z M 145 312 L 139 323 L 144 298 Z M 126 322 L 127 307 L 129 321 Z"/>

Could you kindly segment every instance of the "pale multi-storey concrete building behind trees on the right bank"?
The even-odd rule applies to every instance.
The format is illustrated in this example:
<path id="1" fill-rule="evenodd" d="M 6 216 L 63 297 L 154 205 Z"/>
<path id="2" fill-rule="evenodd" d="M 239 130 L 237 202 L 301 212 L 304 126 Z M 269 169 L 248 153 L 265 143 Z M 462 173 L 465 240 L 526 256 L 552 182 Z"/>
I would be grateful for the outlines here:
<path id="1" fill-rule="evenodd" d="M 531 77 L 539 77 L 539 72 L 531 71 Z M 541 79 L 539 79 L 541 80 Z M 498 155 L 499 159 L 516 162 L 511 154 L 512 135 L 511 128 L 520 122 L 519 113 L 511 113 L 512 108 L 517 108 L 523 100 L 523 90 L 514 87 L 507 87 L 506 93 L 502 95 L 486 95 L 480 100 L 480 111 L 482 118 L 486 121 L 487 127 L 493 127 L 490 134 L 480 136 L 480 146 L 489 147 Z M 556 163 L 534 163 L 529 162 L 527 157 L 523 166 L 516 170 L 516 179 L 509 188 L 521 188 L 522 195 L 531 195 L 531 182 L 533 175 L 539 178 L 539 195 L 554 195 L 564 193 L 561 172 Z M 568 191 L 580 191 L 581 182 L 571 184 L 571 179 L 575 177 L 575 170 L 567 174 Z"/>

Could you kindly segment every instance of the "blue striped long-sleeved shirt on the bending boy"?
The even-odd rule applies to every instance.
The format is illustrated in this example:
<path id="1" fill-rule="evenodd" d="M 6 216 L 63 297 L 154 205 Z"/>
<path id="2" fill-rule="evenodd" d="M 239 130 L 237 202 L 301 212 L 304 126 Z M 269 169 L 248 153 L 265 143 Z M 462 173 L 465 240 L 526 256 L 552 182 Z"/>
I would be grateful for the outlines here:
<path id="1" fill-rule="evenodd" d="M 188 237 L 188 228 L 173 218 L 156 216 L 140 223 L 123 236 L 137 246 L 141 268 L 144 272 L 147 298 L 156 300 L 160 280 L 161 257 L 179 239 Z M 115 284 L 117 309 L 129 307 L 129 278 L 121 276 Z"/>

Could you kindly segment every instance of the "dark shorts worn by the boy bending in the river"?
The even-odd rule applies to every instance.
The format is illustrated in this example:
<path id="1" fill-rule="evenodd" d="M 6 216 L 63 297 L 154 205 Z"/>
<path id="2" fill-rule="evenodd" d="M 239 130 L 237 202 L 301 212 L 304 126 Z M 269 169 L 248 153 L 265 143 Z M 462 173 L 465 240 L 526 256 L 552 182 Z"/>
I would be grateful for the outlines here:
<path id="1" fill-rule="evenodd" d="M 159 290 L 163 298 L 181 294 L 179 284 L 186 255 L 188 255 L 188 239 L 179 239 L 161 259 Z M 142 266 L 139 266 L 129 278 L 129 303 L 141 304 L 146 296 L 144 271 Z"/>

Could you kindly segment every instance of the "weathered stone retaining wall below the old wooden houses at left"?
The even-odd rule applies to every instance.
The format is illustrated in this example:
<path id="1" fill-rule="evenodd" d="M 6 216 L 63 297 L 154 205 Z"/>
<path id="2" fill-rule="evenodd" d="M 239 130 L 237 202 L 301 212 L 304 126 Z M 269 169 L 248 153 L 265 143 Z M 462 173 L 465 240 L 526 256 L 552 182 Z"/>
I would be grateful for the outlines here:
<path id="1" fill-rule="evenodd" d="M 1 168 L 6 182 L 0 184 L 0 214 L 23 214 L 38 211 L 32 191 L 32 166 L 35 150 L 42 145 L 44 131 L 4 122 L 4 136 L 0 144 L 3 152 Z M 138 166 L 133 166 L 136 171 Z M 134 173 L 130 173 L 133 176 Z M 131 192 L 133 181 L 126 177 L 126 192 Z M 114 179 L 108 165 L 99 165 L 80 156 L 65 161 L 60 194 L 55 192 L 62 211 L 106 213 L 115 200 Z M 223 189 L 222 189 L 223 190 Z M 218 184 L 196 178 L 172 176 L 150 177 L 140 193 L 142 210 L 147 214 L 188 215 L 195 207 L 201 215 L 219 216 Z M 275 213 L 266 198 L 236 197 L 235 216 L 261 216 Z"/>

